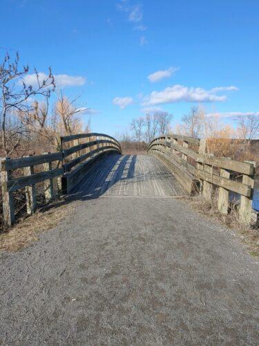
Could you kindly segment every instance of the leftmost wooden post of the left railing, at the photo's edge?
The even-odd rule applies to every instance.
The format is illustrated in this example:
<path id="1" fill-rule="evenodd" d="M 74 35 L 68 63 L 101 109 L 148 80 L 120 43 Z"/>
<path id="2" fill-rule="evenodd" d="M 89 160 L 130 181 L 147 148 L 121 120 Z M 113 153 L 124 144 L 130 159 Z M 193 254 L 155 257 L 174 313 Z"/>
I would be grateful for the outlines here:
<path id="1" fill-rule="evenodd" d="M 12 179 L 12 173 L 6 170 L 6 161 L 10 157 L 1 158 L 1 189 L 3 198 L 3 224 L 4 226 L 12 226 L 15 224 L 15 206 L 12 192 L 8 191 L 8 180 Z"/>

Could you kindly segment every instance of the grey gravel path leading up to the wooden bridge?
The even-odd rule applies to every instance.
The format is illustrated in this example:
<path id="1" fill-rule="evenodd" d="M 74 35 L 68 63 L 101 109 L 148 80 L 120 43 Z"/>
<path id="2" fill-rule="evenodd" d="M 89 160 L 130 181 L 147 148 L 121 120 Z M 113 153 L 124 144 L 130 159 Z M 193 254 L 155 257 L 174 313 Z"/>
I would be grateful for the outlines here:
<path id="1" fill-rule="evenodd" d="M 73 206 L 0 254 L 0 345 L 258 345 L 258 260 L 231 231 L 174 197 Z"/>

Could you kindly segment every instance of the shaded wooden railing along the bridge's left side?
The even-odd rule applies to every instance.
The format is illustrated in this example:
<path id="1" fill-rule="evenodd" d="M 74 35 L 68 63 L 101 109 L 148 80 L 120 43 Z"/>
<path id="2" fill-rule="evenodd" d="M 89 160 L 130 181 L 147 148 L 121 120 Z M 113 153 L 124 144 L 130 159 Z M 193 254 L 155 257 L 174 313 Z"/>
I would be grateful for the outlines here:
<path id="1" fill-rule="evenodd" d="M 1 158 L 3 221 L 15 223 L 14 192 L 25 188 L 27 213 L 37 208 L 37 184 L 43 183 L 45 201 L 70 193 L 90 163 L 110 152 L 121 153 L 115 138 L 106 134 L 76 134 L 58 138 L 59 152 L 23 158 Z M 56 179 L 55 184 L 53 179 Z M 56 190 L 56 191 L 55 191 Z"/>

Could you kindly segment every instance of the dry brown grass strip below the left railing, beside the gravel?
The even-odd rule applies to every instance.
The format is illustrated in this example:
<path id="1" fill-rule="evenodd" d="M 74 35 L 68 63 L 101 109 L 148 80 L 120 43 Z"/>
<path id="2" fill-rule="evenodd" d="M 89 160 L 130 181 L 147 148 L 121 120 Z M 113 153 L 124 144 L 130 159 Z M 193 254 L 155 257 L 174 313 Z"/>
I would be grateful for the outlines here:
<path id="1" fill-rule="evenodd" d="M 0 249 L 18 251 L 28 246 L 31 242 L 37 241 L 40 233 L 57 226 L 73 210 L 73 206 L 68 204 L 55 208 L 55 202 L 51 207 L 48 207 L 48 210 L 38 210 L 34 215 L 26 217 L 19 221 L 19 224 L 9 228 L 6 233 L 1 233 Z"/>

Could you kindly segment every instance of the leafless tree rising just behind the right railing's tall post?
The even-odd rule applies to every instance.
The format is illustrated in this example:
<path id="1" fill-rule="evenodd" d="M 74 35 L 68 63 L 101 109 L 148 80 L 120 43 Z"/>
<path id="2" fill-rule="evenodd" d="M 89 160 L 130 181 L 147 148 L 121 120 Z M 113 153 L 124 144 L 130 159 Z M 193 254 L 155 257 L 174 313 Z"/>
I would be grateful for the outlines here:
<path id="1" fill-rule="evenodd" d="M 184 131 L 187 136 L 199 137 L 204 122 L 204 112 L 200 107 L 191 107 L 188 114 L 182 117 Z"/>

